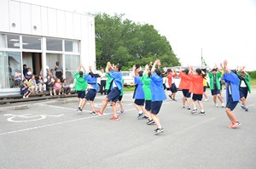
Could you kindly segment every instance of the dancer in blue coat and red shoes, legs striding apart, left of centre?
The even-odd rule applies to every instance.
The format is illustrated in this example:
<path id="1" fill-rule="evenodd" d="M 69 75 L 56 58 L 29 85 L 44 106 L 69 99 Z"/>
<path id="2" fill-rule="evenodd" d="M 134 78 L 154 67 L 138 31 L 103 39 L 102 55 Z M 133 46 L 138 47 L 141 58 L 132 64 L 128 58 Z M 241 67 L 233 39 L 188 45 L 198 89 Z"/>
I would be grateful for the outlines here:
<path id="1" fill-rule="evenodd" d="M 96 110 L 96 114 L 103 115 L 103 111 L 105 110 L 108 101 L 112 101 L 112 109 L 113 109 L 113 117 L 111 117 L 109 120 L 119 120 L 119 116 L 117 115 L 117 106 L 116 102 L 119 99 L 119 95 L 121 91 L 123 90 L 123 84 L 122 84 L 122 73 L 120 72 L 121 65 L 111 65 L 110 62 L 108 62 L 106 67 L 106 73 L 109 74 L 109 77 L 113 78 L 113 82 L 110 86 L 110 93 L 108 93 L 108 96 L 104 99 L 102 104 L 101 110 Z"/>

